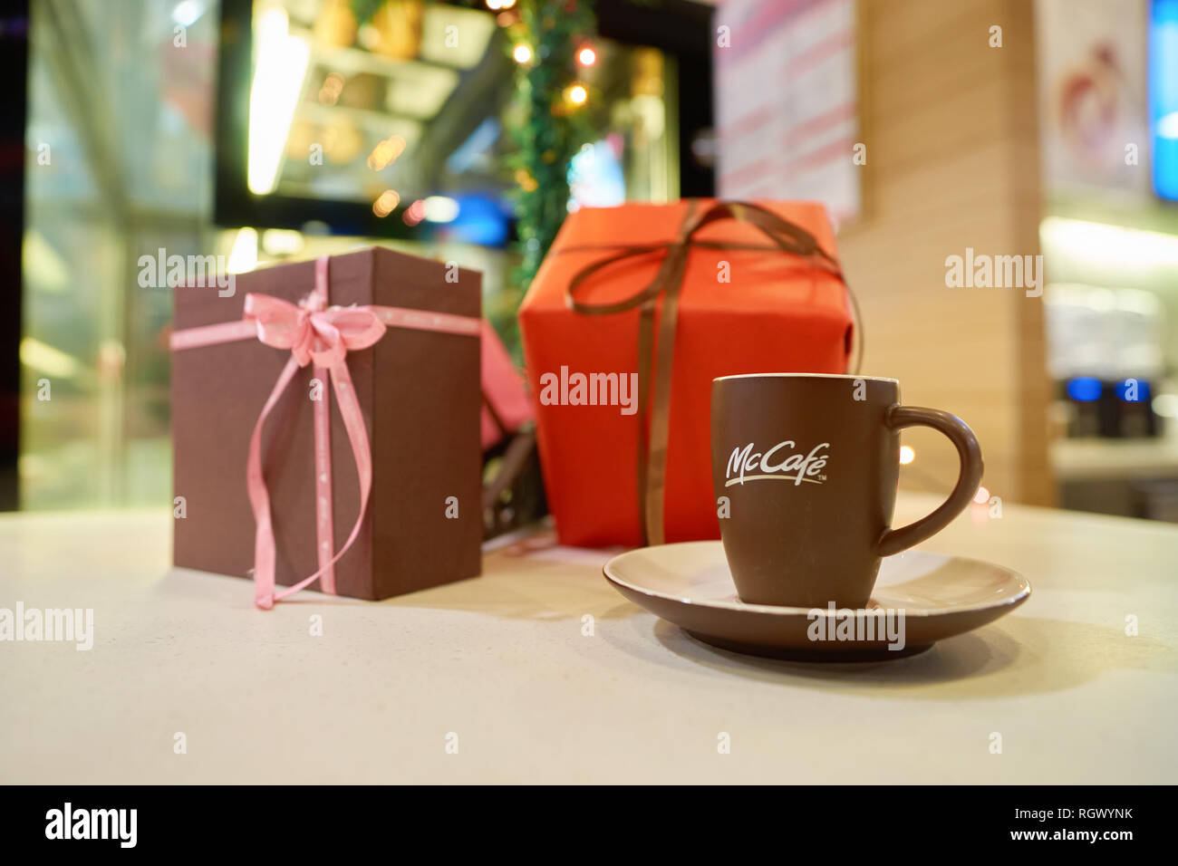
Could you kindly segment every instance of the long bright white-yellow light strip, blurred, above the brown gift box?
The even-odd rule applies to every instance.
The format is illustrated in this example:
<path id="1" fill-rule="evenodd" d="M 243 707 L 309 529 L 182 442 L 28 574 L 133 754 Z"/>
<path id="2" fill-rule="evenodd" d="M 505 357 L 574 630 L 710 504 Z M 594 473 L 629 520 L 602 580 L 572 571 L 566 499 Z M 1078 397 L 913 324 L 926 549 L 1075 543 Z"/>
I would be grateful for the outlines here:
<path id="1" fill-rule="evenodd" d="M 280 6 L 262 15 L 257 27 L 257 58 L 250 88 L 250 159 L 246 183 L 265 196 L 278 184 L 286 137 L 294 106 L 303 92 L 310 46 L 290 35 L 286 11 Z"/>

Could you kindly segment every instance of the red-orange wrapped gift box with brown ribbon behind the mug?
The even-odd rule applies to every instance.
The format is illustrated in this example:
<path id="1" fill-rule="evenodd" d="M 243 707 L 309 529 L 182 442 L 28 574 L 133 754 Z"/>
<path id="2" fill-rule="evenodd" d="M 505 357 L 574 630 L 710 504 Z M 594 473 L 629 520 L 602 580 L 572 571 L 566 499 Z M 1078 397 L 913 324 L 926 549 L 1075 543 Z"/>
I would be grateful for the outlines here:
<path id="1" fill-rule="evenodd" d="M 845 372 L 854 332 L 822 205 L 715 199 L 571 213 L 519 328 L 557 535 L 587 547 L 719 538 L 712 379 Z"/>

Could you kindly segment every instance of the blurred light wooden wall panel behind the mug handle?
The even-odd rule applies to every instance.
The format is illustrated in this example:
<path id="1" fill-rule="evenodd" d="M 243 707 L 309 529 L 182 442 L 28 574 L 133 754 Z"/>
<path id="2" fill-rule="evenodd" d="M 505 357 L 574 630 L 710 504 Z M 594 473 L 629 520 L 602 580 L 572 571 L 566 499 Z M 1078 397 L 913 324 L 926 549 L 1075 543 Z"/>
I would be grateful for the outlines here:
<path id="1" fill-rule="evenodd" d="M 866 323 L 863 372 L 894 376 L 907 403 L 977 431 L 984 484 L 1050 504 L 1043 302 L 1019 287 L 952 289 L 966 247 L 1038 254 L 1040 218 L 1033 5 L 1024 0 L 860 0 L 863 216 L 839 246 Z M 1002 27 L 1002 47 L 988 45 Z M 901 485 L 948 490 L 957 455 L 906 431 Z"/>

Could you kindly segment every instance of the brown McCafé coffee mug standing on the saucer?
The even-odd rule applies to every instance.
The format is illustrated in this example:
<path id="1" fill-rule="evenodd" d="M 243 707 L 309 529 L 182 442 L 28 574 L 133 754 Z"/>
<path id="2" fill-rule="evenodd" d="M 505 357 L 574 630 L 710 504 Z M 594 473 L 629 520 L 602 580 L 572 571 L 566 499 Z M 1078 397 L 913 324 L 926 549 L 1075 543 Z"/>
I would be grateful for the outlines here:
<path id="1" fill-rule="evenodd" d="M 940 508 L 892 529 L 900 430 L 915 425 L 948 436 L 961 471 Z M 720 534 L 744 602 L 866 606 L 880 557 L 948 525 L 973 498 L 981 470 L 965 422 L 900 405 L 895 379 L 757 373 L 712 384 Z"/>

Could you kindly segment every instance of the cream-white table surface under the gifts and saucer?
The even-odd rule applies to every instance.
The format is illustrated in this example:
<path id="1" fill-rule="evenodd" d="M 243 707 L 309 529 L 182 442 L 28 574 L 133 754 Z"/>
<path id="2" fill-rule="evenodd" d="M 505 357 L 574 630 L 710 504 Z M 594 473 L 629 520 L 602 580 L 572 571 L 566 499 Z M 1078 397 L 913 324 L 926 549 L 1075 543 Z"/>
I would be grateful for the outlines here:
<path id="1" fill-rule="evenodd" d="M 259 612 L 244 580 L 168 570 L 170 522 L 0 518 L 0 607 L 93 608 L 95 633 L 0 642 L 0 781 L 1178 780 L 1178 527 L 967 513 L 925 549 L 1010 566 L 1030 601 L 924 655 L 815 666 L 699 643 L 605 583 L 608 551 L 544 537 L 481 579 Z"/>

